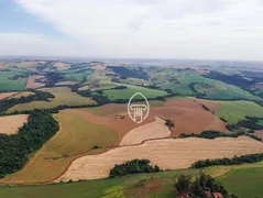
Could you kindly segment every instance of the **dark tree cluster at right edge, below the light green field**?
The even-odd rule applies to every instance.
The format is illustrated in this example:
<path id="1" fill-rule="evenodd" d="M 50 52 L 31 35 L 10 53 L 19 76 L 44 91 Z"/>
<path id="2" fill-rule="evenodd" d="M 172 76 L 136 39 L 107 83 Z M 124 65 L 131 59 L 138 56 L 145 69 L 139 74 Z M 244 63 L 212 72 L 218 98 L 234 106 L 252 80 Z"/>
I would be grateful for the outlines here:
<path id="1" fill-rule="evenodd" d="M 263 130 L 263 125 L 259 124 L 260 121 L 262 121 L 263 118 L 257 117 L 245 117 L 245 120 L 239 121 L 237 124 L 228 124 L 228 130 L 234 130 L 239 129 L 241 127 L 248 128 L 251 130 Z"/>

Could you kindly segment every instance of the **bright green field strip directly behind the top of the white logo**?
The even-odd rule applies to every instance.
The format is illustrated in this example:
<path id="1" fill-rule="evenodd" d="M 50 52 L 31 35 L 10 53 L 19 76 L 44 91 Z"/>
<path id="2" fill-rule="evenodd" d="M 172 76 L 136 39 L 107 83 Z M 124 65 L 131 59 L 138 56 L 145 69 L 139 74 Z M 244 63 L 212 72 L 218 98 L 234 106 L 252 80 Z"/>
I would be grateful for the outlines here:
<path id="1" fill-rule="evenodd" d="M 167 96 L 167 92 L 164 90 L 149 89 L 144 87 L 131 86 L 131 85 L 124 85 L 124 84 L 123 86 L 125 86 L 127 89 L 103 90 L 102 96 L 107 97 L 110 101 L 116 101 L 118 99 L 129 100 L 136 92 L 143 94 L 147 99 Z M 95 95 L 98 95 L 98 94 L 96 92 Z"/>

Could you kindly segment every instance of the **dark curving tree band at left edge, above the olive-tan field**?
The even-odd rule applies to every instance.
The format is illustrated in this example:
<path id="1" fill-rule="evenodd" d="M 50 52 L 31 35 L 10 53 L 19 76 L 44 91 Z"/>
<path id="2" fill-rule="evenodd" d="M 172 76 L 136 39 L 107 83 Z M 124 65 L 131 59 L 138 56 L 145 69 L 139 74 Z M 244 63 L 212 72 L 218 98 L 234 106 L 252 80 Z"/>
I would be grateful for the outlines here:
<path id="1" fill-rule="evenodd" d="M 51 98 L 55 98 L 52 94 L 46 92 L 46 91 L 41 91 L 36 89 L 30 90 L 34 92 L 34 95 L 30 95 L 26 97 L 21 97 L 21 98 L 7 98 L 4 100 L 0 100 L 0 112 L 4 112 L 9 110 L 11 107 L 19 105 L 19 103 L 28 103 L 31 101 L 48 101 Z"/>

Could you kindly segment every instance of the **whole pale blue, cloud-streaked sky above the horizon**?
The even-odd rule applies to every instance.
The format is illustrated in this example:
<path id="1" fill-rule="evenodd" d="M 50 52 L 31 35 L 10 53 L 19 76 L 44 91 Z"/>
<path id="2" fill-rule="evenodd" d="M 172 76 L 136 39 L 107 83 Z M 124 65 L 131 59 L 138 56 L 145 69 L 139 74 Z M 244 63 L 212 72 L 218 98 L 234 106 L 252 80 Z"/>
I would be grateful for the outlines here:
<path id="1" fill-rule="evenodd" d="M 0 56 L 263 61 L 263 0 L 0 0 Z"/>

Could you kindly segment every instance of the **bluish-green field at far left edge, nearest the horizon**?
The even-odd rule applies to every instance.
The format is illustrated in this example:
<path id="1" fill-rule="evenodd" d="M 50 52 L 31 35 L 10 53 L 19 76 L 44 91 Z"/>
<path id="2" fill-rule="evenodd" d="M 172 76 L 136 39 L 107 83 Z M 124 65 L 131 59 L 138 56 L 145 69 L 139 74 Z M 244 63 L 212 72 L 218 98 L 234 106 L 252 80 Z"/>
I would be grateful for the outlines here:
<path id="1" fill-rule="evenodd" d="M 18 76 L 18 78 L 15 77 Z M 20 77 L 23 76 L 23 77 Z M 0 91 L 20 91 L 25 90 L 26 87 L 26 73 L 12 69 L 10 72 L 0 73 Z"/>

